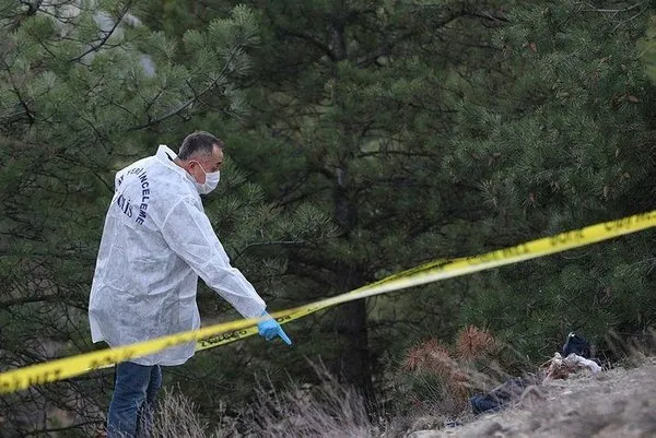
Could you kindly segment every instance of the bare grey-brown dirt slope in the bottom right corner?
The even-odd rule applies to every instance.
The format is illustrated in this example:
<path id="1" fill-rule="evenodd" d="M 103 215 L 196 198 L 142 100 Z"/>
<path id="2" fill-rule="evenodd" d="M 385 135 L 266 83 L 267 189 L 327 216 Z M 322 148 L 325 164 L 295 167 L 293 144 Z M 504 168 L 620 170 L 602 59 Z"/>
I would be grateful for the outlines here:
<path id="1" fill-rule="evenodd" d="M 564 380 L 525 391 L 502 412 L 481 414 L 462 426 L 421 430 L 409 438 L 646 438 L 656 437 L 656 358 L 636 367 Z"/>

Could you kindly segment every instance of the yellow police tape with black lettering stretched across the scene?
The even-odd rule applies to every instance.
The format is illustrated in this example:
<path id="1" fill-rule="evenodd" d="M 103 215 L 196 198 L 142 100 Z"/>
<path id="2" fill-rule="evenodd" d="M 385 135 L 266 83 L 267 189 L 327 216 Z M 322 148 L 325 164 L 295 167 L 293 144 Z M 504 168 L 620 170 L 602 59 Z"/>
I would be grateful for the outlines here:
<path id="1" fill-rule="evenodd" d="M 561 233 L 555 236 L 540 238 L 480 256 L 464 257 L 449 261 L 434 261 L 383 279 L 350 293 L 321 299 L 294 309 L 273 312 L 271 315 L 280 323 L 286 323 L 342 303 L 483 271 L 504 264 L 517 263 L 519 261 L 535 259 L 635 233 L 655 225 L 656 211 L 653 211 L 591 225 L 572 232 Z M 0 374 L 0 393 L 14 392 L 27 389 L 31 386 L 44 384 L 80 376 L 93 369 L 152 354 L 186 342 L 200 341 L 200 350 L 223 345 L 255 333 L 257 330 L 255 324 L 257 322 L 258 319 L 244 319 L 226 322 L 122 347 L 106 348 L 14 369 Z"/>

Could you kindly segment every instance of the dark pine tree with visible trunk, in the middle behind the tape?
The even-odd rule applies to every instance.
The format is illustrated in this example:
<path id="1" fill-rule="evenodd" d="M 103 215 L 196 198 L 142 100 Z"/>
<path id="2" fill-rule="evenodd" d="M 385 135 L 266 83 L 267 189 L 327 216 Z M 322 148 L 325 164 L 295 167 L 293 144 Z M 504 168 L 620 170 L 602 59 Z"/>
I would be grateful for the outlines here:
<path id="1" fill-rule="evenodd" d="M 206 3 L 218 11 L 225 4 Z M 456 67 L 480 61 L 478 50 L 490 50 L 485 26 L 503 16 L 465 1 L 249 4 L 261 10 L 263 39 L 254 52 L 251 117 L 231 139 L 244 144 L 235 159 L 283 211 L 311 202 L 317 217 L 329 215 L 339 227 L 329 242 L 282 247 L 285 298 L 306 303 L 456 254 L 441 228 L 460 211 L 466 190 L 446 187 L 440 173 L 455 98 L 445 83 L 470 74 L 471 67 Z M 161 23 L 157 7 L 149 10 Z M 431 308 L 413 306 L 413 298 L 403 306 L 387 298 L 343 305 L 296 323 L 298 348 L 333 357 L 371 401 L 372 366 L 390 342 L 407 342 L 400 328 L 411 335 L 426 325 L 455 330 L 435 321 L 457 311 L 460 295 L 441 295 L 442 307 Z"/>

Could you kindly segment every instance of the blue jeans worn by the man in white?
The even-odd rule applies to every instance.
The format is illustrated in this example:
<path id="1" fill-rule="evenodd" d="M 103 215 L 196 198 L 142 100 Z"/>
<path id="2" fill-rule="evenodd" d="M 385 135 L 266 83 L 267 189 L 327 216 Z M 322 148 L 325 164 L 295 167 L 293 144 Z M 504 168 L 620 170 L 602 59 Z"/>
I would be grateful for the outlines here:
<path id="1" fill-rule="evenodd" d="M 116 366 L 114 395 L 107 414 L 107 438 L 148 436 L 162 368 L 122 362 Z"/>

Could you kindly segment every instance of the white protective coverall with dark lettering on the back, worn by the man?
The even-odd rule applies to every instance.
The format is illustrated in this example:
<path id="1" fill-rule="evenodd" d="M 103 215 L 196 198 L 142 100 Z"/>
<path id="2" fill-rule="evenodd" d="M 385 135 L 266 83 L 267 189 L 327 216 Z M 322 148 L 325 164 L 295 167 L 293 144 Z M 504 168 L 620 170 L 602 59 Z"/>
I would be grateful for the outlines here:
<path id="1" fill-rule="evenodd" d="M 116 175 L 91 287 L 93 342 L 116 347 L 198 329 L 199 276 L 244 317 L 265 310 L 253 285 L 231 267 L 194 177 L 174 158 L 161 145 L 156 155 Z M 180 365 L 195 347 L 190 342 L 130 360 Z"/>

